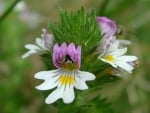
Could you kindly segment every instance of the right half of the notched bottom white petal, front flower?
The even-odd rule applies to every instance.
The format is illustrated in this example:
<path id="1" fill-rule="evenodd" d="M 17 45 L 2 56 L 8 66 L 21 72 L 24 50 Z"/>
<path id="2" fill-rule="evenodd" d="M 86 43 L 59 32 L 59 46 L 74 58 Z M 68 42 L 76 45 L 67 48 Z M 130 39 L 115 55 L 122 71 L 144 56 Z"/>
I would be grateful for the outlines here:
<path id="1" fill-rule="evenodd" d="M 74 100 L 74 90 L 73 90 L 73 85 L 67 85 L 64 89 L 64 93 L 62 95 L 62 99 L 64 103 L 69 104 L 72 103 Z"/>

